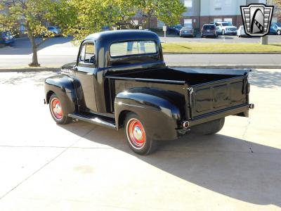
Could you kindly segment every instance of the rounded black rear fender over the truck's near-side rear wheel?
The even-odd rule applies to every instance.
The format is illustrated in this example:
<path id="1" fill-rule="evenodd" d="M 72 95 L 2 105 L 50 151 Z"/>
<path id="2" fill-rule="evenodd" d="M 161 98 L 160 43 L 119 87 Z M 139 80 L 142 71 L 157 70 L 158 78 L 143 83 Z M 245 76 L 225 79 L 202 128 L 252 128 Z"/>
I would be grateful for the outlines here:
<path id="1" fill-rule="evenodd" d="M 158 94 L 159 90 L 133 88 L 117 94 L 115 98 L 115 120 L 117 128 L 123 112 L 136 113 L 146 132 L 155 140 L 177 139 L 176 129 L 181 120 L 180 109 L 169 100 Z"/>

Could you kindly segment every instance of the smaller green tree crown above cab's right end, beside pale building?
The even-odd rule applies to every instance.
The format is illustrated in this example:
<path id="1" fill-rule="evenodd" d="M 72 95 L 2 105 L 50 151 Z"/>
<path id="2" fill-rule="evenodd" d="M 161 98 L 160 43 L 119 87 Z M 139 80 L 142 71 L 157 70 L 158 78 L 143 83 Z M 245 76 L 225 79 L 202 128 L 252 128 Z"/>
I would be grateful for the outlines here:
<path id="1" fill-rule="evenodd" d="M 173 25 L 178 23 L 181 14 L 186 11 L 180 0 L 139 0 L 137 7 L 148 28 L 150 28 L 150 19 L 152 17 L 157 17 L 166 25 Z"/>

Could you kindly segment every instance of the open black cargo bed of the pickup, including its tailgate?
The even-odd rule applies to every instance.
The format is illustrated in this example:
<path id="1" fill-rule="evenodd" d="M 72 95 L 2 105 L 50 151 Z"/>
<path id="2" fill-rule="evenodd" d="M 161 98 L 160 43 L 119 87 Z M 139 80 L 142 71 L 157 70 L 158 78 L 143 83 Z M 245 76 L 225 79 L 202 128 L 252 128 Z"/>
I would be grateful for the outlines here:
<path id="1" fill-rule="evenodd" d="M 108 76 L 112 97 L 119 91 L 135 87 L 152 87 L 173 91 L 189 120 L 197 120 L 247 106 L 250 70 L 157 69 Z M 178 101 L 181 96 L 181 101 Z M 239 109 L 238 109 L 239 110 Z M 238 114 L 238 113 L 237 113 Z M 229 113 L 228 113 L 229 115 Z"/>

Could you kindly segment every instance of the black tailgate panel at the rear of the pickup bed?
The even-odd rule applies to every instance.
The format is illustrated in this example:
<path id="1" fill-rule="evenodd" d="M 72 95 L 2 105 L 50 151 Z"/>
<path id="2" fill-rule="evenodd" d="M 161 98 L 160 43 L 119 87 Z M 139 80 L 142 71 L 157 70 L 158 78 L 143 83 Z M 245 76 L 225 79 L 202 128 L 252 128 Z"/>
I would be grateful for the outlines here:
<path id="1" fill-rule="evenodd" d="M 197 84 L 189 90 L 191 119 L 249 103 L 248 75 Z"/>

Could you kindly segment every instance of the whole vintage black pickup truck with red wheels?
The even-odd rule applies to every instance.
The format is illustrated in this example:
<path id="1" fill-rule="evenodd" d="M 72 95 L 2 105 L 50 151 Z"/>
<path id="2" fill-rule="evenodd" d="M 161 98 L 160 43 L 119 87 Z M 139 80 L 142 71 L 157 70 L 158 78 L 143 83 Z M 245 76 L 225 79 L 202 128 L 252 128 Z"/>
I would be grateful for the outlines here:
<path id="1" fill-rule="evenodd" d="M 45 81 L 45 103 L 58 124 L 73 119 L 124 127 L 131 149 L 151 153 L 158 141 L 187 132 L 215 134 L 228 115 L 249 116 L 249 70 L 171 69 L 157 34 L 91 34 L 77 61 Z"/>

